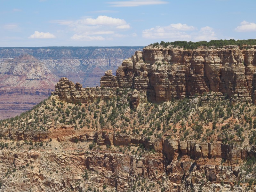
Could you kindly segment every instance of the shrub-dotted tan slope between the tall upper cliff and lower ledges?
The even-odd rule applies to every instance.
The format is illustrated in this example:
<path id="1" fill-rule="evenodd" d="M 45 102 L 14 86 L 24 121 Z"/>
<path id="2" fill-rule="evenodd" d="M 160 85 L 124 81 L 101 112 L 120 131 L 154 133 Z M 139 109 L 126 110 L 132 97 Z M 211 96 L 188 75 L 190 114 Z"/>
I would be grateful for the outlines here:
<path id="1" fill-rule="evenodd" d="M 57 126 L 69 126 L 74 130 L 143 134 L 148 139 L 152 136 L 200 142 L 255 144 L 255 106 L 233 103 L 232 100 L 210 92 L 202 97 L 161 104 L 142 103 L 140 108 L 134 110 L 129 106 L 126 93 L 111 100 L 99 99 L 87 104 L 66 103 L 52 96 L 20 116 L 0 121 L 0 125 L 3 130 L 46 132 Z"/>

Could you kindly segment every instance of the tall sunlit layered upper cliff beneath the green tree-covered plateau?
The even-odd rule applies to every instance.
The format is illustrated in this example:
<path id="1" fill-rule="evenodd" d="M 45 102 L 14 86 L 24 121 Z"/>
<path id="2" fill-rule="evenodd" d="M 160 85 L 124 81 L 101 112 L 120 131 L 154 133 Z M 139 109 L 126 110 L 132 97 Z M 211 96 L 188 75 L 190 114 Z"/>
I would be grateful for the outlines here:
<path id="1" fill-rule="evenodd" d="M 156 102 L 210 91 L 251 101 L 255 94 L 255 52 L 254 46 L 248 50 L 238 46 L 196 50 L 148 46 L 124 60 L 116 76 L 105 74 L 101 86 L 135 88 Z"/>

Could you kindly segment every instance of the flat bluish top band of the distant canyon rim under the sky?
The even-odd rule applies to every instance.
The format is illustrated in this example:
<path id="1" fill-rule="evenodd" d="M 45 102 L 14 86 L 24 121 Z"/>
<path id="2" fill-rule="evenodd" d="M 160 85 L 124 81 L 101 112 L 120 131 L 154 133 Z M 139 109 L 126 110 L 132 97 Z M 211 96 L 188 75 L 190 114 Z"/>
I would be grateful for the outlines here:
<path id="1" fill-rule="evenodd" d="M 126 58 L 143 47 L 0 47 L 0 58 L 30 54 L 37 59 Z"/>

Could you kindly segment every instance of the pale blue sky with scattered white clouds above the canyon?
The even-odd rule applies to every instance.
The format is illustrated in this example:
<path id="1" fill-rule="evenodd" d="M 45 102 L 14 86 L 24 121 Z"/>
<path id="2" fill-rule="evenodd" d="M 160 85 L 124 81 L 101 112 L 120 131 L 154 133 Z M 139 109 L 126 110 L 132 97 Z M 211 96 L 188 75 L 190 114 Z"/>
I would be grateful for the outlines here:
<path id="1" fill-rule="evenodd" d="M 256 0 L 0 0 L 0 47 L 256 38 Z"/>

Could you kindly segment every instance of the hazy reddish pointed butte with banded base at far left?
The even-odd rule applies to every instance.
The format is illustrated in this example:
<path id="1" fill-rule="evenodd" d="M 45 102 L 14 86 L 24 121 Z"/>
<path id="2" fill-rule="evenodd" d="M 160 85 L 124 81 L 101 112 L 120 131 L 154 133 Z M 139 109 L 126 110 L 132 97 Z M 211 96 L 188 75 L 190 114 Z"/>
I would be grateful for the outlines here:
<path id="1" fill-rule="evenodd" d="M 49 97 L 58 79 L 28 54 L 0 65 L 0 119 L 19 115 Z"/>

